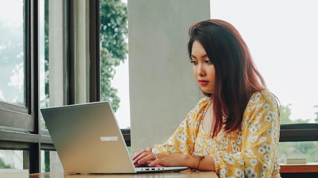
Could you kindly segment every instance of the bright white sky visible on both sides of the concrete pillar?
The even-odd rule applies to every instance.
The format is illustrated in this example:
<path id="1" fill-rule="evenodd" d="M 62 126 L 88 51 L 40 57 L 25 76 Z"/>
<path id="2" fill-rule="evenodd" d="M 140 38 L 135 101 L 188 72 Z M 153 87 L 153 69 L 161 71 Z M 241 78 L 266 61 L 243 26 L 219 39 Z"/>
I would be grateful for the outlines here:
<path id="1" fill-rule="evenodd" d="M 126 1 L 125 1 L 126 2 Z M 317 1 L 211 0 L 211 18 L 232 23 L 241 33 L 268 88 L 291 119 L 315 118 L 318 105 Z M 112 85 L 121 99 L 116 118 L 130 125 L 128 60 L 116 68 Z"/>

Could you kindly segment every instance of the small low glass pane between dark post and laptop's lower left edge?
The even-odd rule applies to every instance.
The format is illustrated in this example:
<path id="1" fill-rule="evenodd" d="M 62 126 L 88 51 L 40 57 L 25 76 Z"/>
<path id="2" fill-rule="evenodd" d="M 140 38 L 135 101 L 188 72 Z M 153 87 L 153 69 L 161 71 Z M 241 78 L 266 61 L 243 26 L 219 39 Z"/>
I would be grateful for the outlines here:
<path id="1" fill-rule="evenodd" d="M 41 172 L 63 171 L 57 152 L 41 150 Z"/>

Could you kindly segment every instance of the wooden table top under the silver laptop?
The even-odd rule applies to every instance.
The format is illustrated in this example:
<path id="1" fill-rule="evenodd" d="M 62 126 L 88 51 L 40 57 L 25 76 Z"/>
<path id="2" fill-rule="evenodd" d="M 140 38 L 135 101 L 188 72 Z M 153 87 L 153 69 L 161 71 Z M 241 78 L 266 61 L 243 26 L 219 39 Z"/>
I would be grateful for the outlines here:
<path id="1" fill-rule="evenodd" d="M 29 178 L 169 178 L 169 177 L 193 177 L 193 178 L 218 178 L 215 172 L 205 172 L 183 170 L 181 172 L 164 172 L 164 173 L 138 173 L 138 174 L 66 174 L 64 172 L 43 172 L 32 173 Z"/>

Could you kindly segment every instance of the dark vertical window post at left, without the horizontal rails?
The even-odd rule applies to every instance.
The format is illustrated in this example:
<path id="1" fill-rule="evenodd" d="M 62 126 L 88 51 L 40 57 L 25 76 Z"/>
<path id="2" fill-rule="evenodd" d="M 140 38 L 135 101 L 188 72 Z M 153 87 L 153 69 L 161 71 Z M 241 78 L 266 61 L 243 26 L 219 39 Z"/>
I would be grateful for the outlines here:
<path id="1" fill-rule="evenodd" d="M 26 60 L 26 67 L 28 68 L 28 78 L 30 78 L 30 83 L 27 83 L 27 105 L 30 106 L 30 114 L 33 118 L 34 131 L 31 132 L 34 137 L 37 137 L 36 143 L 30 143 L 29 154 L 28 154 L 28 166 L 30 173 L 40 172 L 41 170 L 41 138 L 39 135 L 40 131 L 40 118 L 39 118 L 39 2 L 37 0 L 28 0 L 29 7 L 28 10 L 28 20 L 27 23 L 27 44 L 28 49 L 26 54 L 28 60 Z M 27 154 L 24 154 L 27 158 Z M 24 160 L 24 165 L 26 166 L 27 160 Z M 26 168 L 26 167 L 25 167 Z"/>

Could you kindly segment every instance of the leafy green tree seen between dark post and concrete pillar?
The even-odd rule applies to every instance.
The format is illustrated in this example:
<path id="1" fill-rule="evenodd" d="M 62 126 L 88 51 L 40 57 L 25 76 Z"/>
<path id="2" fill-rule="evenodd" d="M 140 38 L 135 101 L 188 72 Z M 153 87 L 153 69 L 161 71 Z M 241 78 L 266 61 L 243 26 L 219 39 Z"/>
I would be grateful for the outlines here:
<path id="1" fill-rule="evenodd" d="M 101 100 L 111 102 L 113 110 L 119 107 L 117 89 L 111 86 L 115 69 L 128 54 L 127 5 L 120 0 L 100 1 Z"/>

